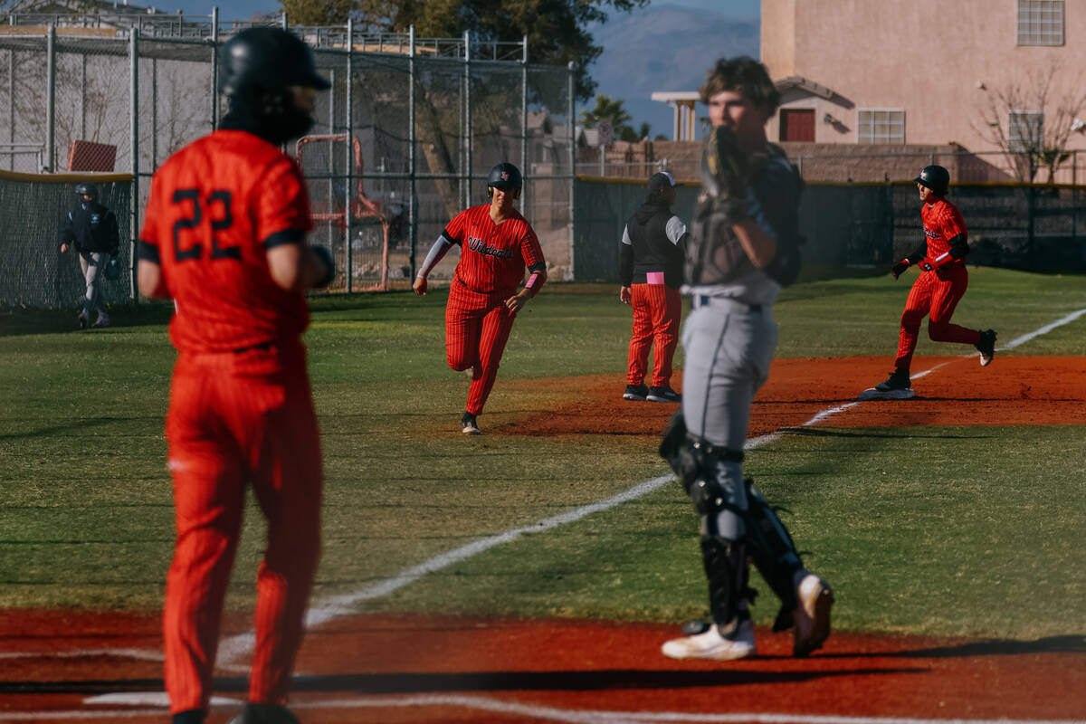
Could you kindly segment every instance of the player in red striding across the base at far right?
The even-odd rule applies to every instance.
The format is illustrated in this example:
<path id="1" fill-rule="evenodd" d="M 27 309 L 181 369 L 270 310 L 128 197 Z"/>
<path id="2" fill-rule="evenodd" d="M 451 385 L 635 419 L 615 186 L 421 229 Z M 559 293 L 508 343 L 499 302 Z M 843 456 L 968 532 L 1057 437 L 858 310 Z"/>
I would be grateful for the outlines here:
<path id="1" fill-rule="evenodd" d="M 920 322 L 930 317 L 927 334 L 935 342 L 972 344 L 981 353 L 981 365 L 987 367 L 996 354 L 996 332 L 965 329 L 950 322 L 955 307 L 969 287 L 965 255 L 969 232 L 958 208 L 946 200 L 950 174 L 943 166 L 925 166 L 913 179 L 923 206 L 924 242 L 917 251 L 894 265 L 897 279 L 913 264 L 920 265 L 920 276 L 909 290 L 901 314 L 901 333 L 897 343 L 894 371 L 884 381 L 866 390 L 861 399 L 908 399 L 913 396 L 909 365 L 917 348 Z"/>

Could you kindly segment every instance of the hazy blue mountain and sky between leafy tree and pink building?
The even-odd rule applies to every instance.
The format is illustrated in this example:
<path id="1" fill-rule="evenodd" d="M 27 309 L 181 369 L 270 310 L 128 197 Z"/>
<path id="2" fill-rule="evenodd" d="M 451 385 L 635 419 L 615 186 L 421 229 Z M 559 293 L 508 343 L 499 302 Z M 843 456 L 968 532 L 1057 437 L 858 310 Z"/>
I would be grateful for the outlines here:
<path id="1" fill-rule="evenodd" d="M 652 126 L 652 135 L 671 138 L 674 112 L 667 103 L 652 100 L 659 90 L 692 91 L 705 82 L 705 74 L 724 55 L 758 58 L 760 21 L 729 17 L 722 13 L 678 5 L 649 5 L 631 13 L 608 13 L 607 22 L 589 28 L 604 52 L 589 72 L 596 93 L 621 99 L 633 128 Z M 595 106 L 593 98 L 578 105 Z M 698 116 L 706 109 L 698 104 Z M 695 134 L 700 129 L 695 127 Z"/>

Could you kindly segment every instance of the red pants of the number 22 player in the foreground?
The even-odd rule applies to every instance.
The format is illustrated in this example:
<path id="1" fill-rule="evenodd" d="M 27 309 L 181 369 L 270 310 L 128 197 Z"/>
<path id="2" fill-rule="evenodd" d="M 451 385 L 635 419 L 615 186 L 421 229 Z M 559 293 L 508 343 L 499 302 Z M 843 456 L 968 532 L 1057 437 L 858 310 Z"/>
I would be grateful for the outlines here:
<path id="1" fill-rule="evenodd" d="M 177 526 L 163 615 L 171 712 L 207 710 L 247 482 L 268 526 L 249 700 L 286 703 L 320 555 L 324 473 L 304 347 L 181 353 L 166 436 Z"/>

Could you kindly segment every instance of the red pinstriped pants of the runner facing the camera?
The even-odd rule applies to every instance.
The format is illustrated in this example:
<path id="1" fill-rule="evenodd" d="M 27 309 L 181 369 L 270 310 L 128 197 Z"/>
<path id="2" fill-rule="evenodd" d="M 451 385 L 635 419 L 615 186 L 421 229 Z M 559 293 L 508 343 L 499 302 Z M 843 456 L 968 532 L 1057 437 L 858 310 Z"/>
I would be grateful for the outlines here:
<path id="1" fill-rule="evenodd" d="M 454 279 L 449 288 L 445 357 L 455 370 L 475 368 L 465 407 L 472 415 L 482 412 L 494 388 L 502 353 L 516 318 L 505 306 L 505 301 L 514 293 L 515 290 L 473 292 L 459 279 Z"/>

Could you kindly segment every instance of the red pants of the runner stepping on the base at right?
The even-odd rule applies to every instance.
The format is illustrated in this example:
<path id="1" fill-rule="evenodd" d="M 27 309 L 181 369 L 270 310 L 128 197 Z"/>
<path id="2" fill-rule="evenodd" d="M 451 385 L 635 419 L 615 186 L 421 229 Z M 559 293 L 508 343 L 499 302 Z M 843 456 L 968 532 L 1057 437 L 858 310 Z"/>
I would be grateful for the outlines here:
<path id="1" fill-rule="evenodd" d="M 917 281 L 912 282 L 909 299 L 905 302 L 905 312 L 901 313 L 901 334 L 897 342 L 895 367 L 909 369 L 912 364 L 920 322 L 925 315 L 931 315 L 927 335 L 934 342 L 976 344 L 981 341 L 977 330 L 950 323 L 955 307 L 965 295 L 968 287 L 969 271 L 964 264 L 948 264 L 933 271 L 920 272 Z"/>

